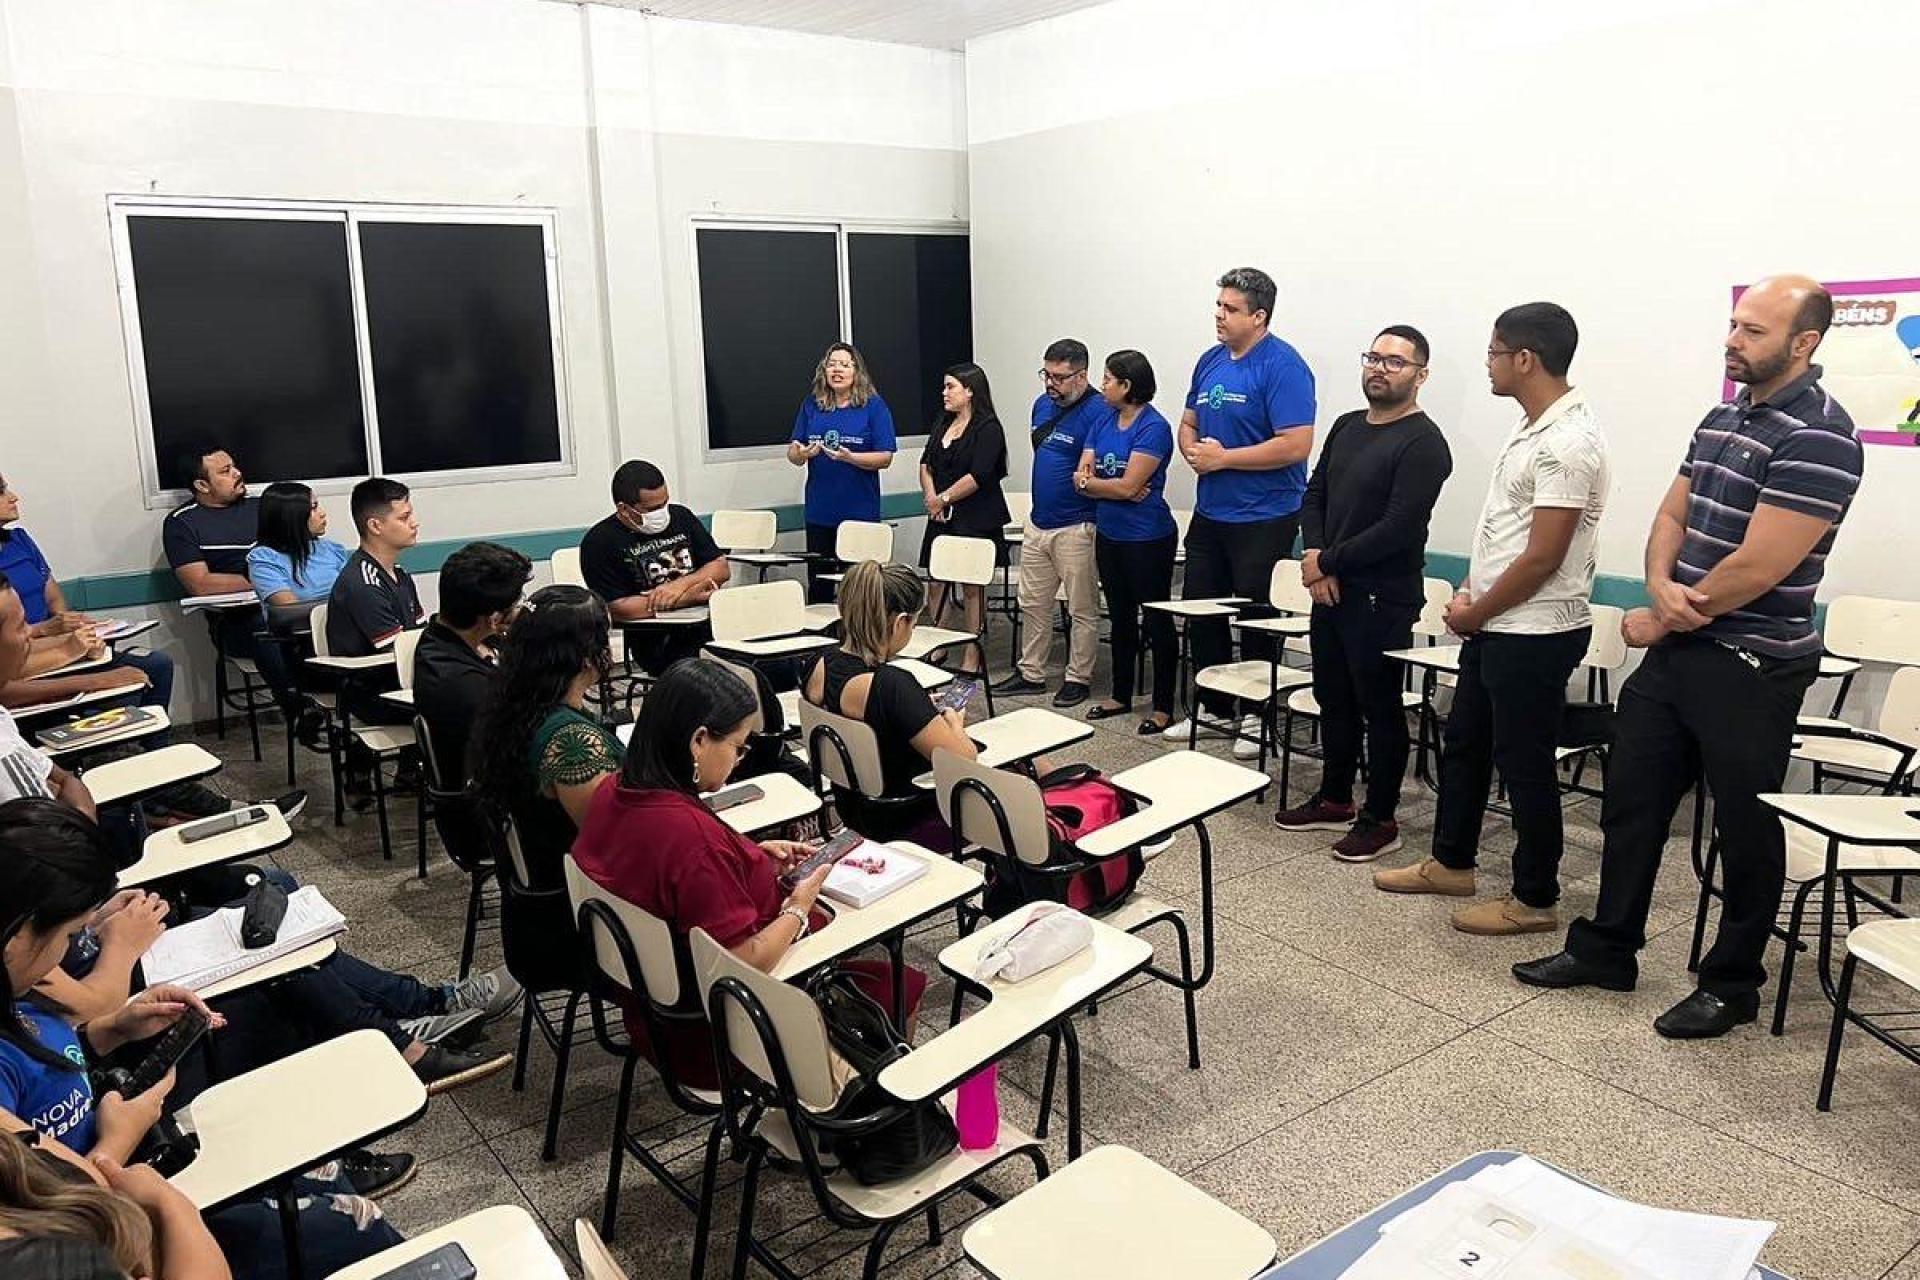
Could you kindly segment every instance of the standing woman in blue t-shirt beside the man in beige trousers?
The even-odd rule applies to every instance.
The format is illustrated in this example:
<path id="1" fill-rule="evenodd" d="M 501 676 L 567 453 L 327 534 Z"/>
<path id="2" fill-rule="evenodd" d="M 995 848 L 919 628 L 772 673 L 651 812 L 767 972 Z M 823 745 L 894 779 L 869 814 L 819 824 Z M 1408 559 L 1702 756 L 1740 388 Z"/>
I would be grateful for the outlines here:
<path id="1" fill-rule="evenodd" d="M 1140 608 L 1173 599 L 1173 547 L 1179 532 L 1167 507 L 1167 459 L 1173 428 L 1154 409 L 1154 367 L 1139 351 L 1106 357 L 1100 395 L 1117 415 L 1094 424 L 1073 484 L 1094 499 L 1092 557 L 1114 622 L 1114 693 L 1087 720 L 1123 716 L 1133 704 L 1133 668 L 1140 654 L 1140 616 L 1154 654 L 1154 712 L 1140 733 L 1173 720 L 1173 672 L 1179 662 L 1173 618 Z"/>

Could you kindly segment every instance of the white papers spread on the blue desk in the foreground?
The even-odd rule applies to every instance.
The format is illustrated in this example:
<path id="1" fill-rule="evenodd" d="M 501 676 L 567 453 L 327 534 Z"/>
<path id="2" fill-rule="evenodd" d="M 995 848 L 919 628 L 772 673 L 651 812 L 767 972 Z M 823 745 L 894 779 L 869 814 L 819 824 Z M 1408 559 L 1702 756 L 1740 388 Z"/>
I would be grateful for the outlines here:
<path id="1" fill-rule="evenodd" d="M 1530 1157 L 1440 1188 L 1380 1228 L 1348 1280 L 1749 1280 L 1774 1222 L 1640 1205 Z"/>

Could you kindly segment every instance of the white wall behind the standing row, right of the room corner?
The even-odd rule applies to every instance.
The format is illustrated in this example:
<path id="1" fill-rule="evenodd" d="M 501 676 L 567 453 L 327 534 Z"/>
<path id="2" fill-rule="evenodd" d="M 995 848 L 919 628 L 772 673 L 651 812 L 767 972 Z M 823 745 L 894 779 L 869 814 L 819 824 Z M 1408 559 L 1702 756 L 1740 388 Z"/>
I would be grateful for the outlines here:
<path id="1" fill-rule="evenodd" d="M 1553 299 L 1613 439 L 1601 570 L 1640 576 L 1720 395 L 1728 288 L 1920 274 L 1920 169 L 1897 159 L 1912 146 L 1889 98 L 1916 48 L 1910 0 L 1117 0 L 985 36 L 968 44 L 979 357 L 1025 391 L 1062 334 L 1140 347 L 1173 416 L 1213 278 L 1256 265 L 1325 426 L 1361 403 L 1373 334 L 1419 324 L 1455 459 L 1430 545 L 1465 553 L 1515 416 L 1486 393 L 1490 322 Z M 1866 464 L 1826 595 L 1912 595 L 1920 449 Z"/>

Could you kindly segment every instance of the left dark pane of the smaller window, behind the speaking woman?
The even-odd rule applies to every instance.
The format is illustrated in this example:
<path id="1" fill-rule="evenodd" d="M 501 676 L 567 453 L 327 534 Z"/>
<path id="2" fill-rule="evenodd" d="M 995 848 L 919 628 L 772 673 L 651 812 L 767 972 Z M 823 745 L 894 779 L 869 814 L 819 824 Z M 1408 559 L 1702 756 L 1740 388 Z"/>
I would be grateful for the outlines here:
<path id="1" fill-rule="evenodd" d="M 839 251 L 804 230 L 703 226 L 701 345 L 707 359 L 707 443 L 778 445 L 839 338 Z"/>

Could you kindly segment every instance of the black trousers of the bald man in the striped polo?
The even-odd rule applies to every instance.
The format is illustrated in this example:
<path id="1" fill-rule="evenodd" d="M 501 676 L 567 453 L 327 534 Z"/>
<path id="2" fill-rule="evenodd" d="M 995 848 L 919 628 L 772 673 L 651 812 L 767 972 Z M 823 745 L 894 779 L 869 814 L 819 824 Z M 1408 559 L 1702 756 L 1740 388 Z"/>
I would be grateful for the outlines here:
<path id="1" fill-rule="evenodd" d="M 1801 699 L 1820 658 L 1763 658 L 1701 637 L 1657 645 L 1620 689 L 1599 825 L 1607 837 L 1594 919 L 1576 919 L 1567 950 L 1634 971 L 1647 940 L 1653 877 L 1680 798 L 1701 770 L 1720 833 L 1726 902 L 1699 984 L 1743 996 L 1766 981 L 1766 940 L 1786 889 L 1780 818 L 1755 796 L 1780 791 Z"/>

